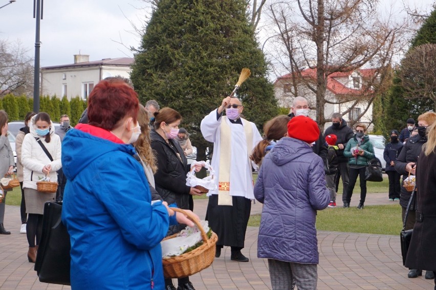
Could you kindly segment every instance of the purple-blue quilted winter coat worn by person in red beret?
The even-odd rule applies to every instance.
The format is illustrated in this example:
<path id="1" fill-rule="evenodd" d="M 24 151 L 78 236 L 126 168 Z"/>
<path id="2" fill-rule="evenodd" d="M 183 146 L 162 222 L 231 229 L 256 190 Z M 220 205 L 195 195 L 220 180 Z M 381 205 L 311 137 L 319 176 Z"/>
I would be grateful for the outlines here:
<path id="1" fill-rule="evenodd" d="M 316 211 L 329 205 L 322 159 L 303 141 L 285 137 L 266 155 L 254 186 L 264 204 L 257 257 L 317 264 Z"/>

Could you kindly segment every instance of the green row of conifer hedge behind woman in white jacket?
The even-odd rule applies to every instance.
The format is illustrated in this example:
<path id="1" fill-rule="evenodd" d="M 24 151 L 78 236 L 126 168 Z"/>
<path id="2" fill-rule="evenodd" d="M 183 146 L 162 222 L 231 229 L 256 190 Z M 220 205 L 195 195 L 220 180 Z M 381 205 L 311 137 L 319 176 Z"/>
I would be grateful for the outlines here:
<path id="1" fill-rule="evenodd" d="M 39 100 L 39 111 L 48 113 L 53 122 L 59 122 L 60 116 L 68 115 L 72 126 L 77 124 L 85 108 L 86 101 L 80 97 L 72 98 L 69 101 L 67 97 L 59 99 L 56 95 L 52 97 L 41 96 Z M 23 121 L 26 114 L 33 110 L 33 99 L 8 94 L 0 99 L 0 109 L 8 113 L 9 122 Z"/>

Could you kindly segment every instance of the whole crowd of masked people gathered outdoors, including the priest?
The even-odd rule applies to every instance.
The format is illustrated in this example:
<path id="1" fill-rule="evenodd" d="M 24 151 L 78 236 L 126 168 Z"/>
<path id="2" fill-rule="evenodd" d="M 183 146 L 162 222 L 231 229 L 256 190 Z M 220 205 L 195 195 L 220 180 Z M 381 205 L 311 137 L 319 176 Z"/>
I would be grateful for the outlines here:
<path id="1" fill-rule="evenodd" d="M 200 126 L 204 139 L 214 145 L 216 189 L 207 193 L 205 218 L 218 236 L 215 257 L 230 247 L 231 260 L 249 261 L 243 249 L 256 199 L 263 204 L 257 256 L 268 259 L 272 288 L 316 289 L 316 212 L 337 207 L 340 179 L 343 207 L 349 208 L 358 177 L 357 209 L 364 208 L 365 168 L 375 158 L 367 127 L 356 123 L 351 128 L 340 113 L 333 113 L 332 125 L 323 133 L 308 117 L 308 100 L 296 97 L 290 114 L 268 121 L 261 136 L 256 125 L 243 118 L 243 110 L 240 99 L 226 97 Z M 94 87 L 78 125 L 72 128 L 67 115 L 59 121 L 55 131 L 47 113 L 30 112 L 16 138 L 23 197 L 20 232 L 27 234 L 29 262 L 35 262 L 38 251 L 43 205 L 63 200 L 62 221 L 71 237 L 72 289 L 105 288 L 108 283 L 113 288 L 194 289 L 189 277 L 179 278 L 176 288 L 172 279 L 164 278 L 161 262 L 160 241 L 193 226 L 171 208 L 192 213 L 193 196 L 203 194 L 186 185 L 186 157 L 193 147 L 187 130 L 180 128 L 181 114 L 161 108 L 155 100 L 142 106 L 128 80 L 112 77 Z M 436 270 L 436 259 L 431 258 L 436 256 L 431 194 L 436 187 L 435 121 L 436 113 L 427 112 L 419 116 L 418 126 L 410 118 L 401 133 L 390 130 L 383 155 L 388 200 L 399 200 L 403 218 L 410 192 L 401 186 L 401 175 L 403 180 L 416 175 L 420 189 L 406 224 L 406 229 L 415 229 L 406 260 L 410 278 L 427 270 L 426 278 L 434 279 Z M 3 110 L 0 128 L 4 175 L 13 172 L 14 160 Z M 200 171 L 201 165 L 194 169 Z M 253 170 L 258 171 L 255 184 Z M 43 177 L 58 181 L 56 193 L 37 190 L 36 182 Z M 0 234 L 10 234 L 3 226 L 5 199 L 6 191 L 0 203 Z"/>

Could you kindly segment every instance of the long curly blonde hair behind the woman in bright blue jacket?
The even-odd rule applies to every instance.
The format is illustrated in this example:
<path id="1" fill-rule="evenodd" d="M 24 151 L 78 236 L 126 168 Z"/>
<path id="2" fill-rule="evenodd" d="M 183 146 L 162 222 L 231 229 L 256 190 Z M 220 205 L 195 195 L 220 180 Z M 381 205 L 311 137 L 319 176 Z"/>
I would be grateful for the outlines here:
<path id="1" fill-rule="evenodd" d="M 135 142 L 135 148 L 141 159 L 150 166 L 153 173 L 156 173 L 158 167 L 156 166 L 156 155 L 151 149 L 149 122 L 150 119 L 148 118 L 148 113 L 144 106 L 140 104 L 138 110 L 138 123 L 141 127 L 141 135 L 139 135 L 138 140 Z"/>

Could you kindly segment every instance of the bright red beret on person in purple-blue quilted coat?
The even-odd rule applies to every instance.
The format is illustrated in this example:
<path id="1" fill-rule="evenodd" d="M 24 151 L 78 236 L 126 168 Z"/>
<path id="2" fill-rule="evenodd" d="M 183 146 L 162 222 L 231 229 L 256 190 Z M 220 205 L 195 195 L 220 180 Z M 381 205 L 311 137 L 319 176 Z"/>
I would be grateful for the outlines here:
<path id="1" fill-rule="evenodd" d="M 318 124 L 306 116 L 294 117 L 288 123 L 288 136 L 306 143 L 313 143 L 319 138 Z"/>

